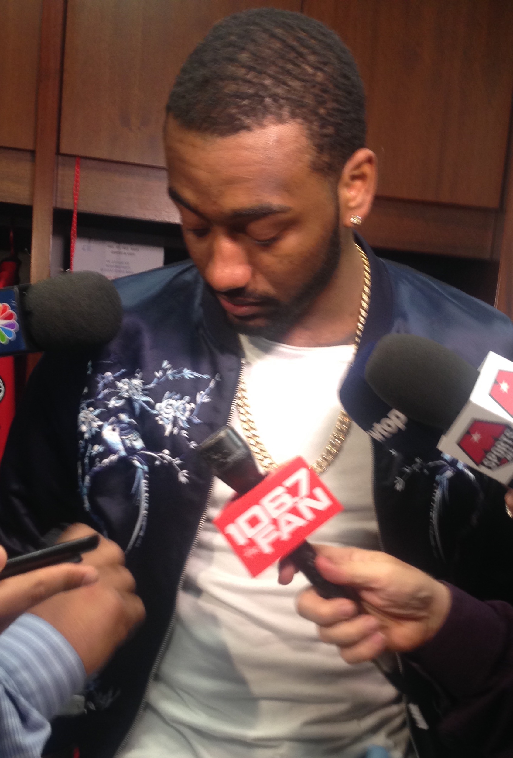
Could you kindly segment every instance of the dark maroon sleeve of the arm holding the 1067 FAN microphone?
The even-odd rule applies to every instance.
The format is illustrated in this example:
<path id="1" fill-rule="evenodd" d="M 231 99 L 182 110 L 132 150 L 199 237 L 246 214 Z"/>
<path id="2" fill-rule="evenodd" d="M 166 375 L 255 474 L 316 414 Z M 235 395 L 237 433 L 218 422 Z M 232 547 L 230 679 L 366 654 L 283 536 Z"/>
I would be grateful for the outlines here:
<path id="1" fill-rule="evenodd" d="M 452 701 L 439 725 L 449 744 L 479 746 L 483 758 L 511 758 L 513 608 L 448 586 L 452 606 L 445 624 L 408 658 Z"/>

